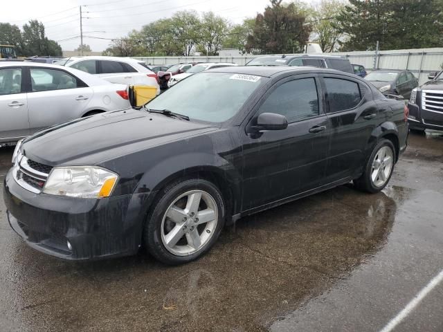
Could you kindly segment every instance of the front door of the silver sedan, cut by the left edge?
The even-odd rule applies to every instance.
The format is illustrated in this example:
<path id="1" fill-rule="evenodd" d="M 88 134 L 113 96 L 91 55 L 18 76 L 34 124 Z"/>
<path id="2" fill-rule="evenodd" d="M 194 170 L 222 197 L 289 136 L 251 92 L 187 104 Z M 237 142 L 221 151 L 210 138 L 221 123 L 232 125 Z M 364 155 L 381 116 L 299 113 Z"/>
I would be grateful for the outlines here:
<path id="1" fill-rule="evenodd" d="M 0 68 L 0 142 L 29 135 L 28 101 L 20 66 Z"/>

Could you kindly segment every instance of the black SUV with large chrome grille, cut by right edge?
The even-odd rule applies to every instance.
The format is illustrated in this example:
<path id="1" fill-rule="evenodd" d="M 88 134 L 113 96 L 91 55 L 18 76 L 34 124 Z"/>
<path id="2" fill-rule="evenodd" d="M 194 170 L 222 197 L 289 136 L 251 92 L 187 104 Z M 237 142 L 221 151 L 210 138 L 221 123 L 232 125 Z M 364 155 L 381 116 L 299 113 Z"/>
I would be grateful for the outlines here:
<path id="1" fill-rule="evenodd" d="M 413 89 L 409 102 L 409 127 L 413 131 L 443 131 L 443 72 L 430 73 L 422 86 Z"/>

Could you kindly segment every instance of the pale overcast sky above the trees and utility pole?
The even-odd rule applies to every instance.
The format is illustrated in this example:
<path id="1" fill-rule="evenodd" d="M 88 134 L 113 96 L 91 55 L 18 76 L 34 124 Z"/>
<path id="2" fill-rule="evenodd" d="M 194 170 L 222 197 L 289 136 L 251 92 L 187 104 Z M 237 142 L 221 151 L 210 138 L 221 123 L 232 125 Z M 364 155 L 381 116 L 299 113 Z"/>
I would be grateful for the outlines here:
<path id="1" fill-rule="evenodd" d="M 313 0 L 318 2 L 316 0 Z M 313 2 L 306 0 L 306 2 Z M 178 10 L 212 10 L 233 23 L 241 23 L 245 17 L 255 17 L 263 12 L 269 0 L 21 0 L 3 1 L 0 22 L 17 24 L 21 28 L 30 19 L 42 21 L 46 35 L 62 45 L 63 50 L 73 50 L 80 38 L 80 9 L 84 12 L 84 36 L 116 38 L 127 35 L 132 29 L 140 29 L 156 19 L 170 17 Z M 91 32 L 93 31 L 93 32 Z M 98 32 L 97 32 L 98 31 Z M 109 40 L 85 37 L 94 51 L 105 50 Z"/>

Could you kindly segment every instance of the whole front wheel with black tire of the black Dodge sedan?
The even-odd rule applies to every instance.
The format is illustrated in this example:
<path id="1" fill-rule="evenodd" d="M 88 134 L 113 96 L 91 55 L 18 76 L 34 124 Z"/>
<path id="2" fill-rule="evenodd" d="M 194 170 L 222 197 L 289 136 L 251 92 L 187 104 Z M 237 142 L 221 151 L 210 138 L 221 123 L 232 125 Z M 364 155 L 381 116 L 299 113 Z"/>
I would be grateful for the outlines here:
<path id="1" fill-rule="evenodd" d="M 204 255 L 224 226 L 224 201 L 209 181 L 177 181 L 160 192 L 147 216 L 145 246 L 168 265 L 187 263 Z"/>

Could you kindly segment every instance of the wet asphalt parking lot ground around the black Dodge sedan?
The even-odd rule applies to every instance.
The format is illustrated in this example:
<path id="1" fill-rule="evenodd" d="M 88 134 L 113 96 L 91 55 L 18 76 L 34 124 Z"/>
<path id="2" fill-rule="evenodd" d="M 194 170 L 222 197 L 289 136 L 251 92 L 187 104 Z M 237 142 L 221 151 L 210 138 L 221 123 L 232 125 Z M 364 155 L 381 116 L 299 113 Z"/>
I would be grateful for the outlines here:
<path id="1" fill-rule="evenodd" d="M 0 181 L 11 148 L 0 148 Z M 10 230 L 0 331 L 381 331 L 443 269 L 443 133 L 410 134 L 390 185 L 344 185 L 242 219 L 208 255 L 70 262 Z M 443 284 L 393 331 L 443 331 Z"/>

